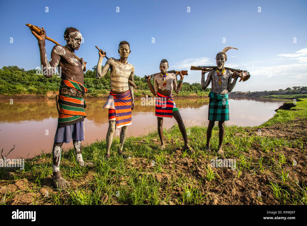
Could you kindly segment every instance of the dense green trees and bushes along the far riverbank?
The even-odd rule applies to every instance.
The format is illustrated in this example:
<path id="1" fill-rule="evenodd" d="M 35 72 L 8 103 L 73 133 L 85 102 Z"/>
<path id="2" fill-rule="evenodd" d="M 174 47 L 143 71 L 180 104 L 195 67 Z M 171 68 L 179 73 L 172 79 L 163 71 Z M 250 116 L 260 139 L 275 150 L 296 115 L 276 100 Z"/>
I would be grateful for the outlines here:
<path id="1" fill-rule="evenodd" d="M 110 91 L 110 71 L 100 78 L 96 79 L 96 66 L 92 70 L 84 73 L 84 85 L 88 93 L 107 93 Z M 53 75 L 46 78 L 40 70 L 25 70 L 17 66 L 3 66 L 0 69 L 0 95 L 3 94 L 46 94 L 48 91 L 58 91 L 61 78 L 59 75 Z M 153 84 L 153 79 L 151 79 Z M 177 81 L 179 82 L 179 80 Z M 139 77 L 134 74 L 134 83 L 139 90 L 149 90 L 145 77 Z M 188 93 L 208 93 L 211 89 L 201 89 L 200 83 L 190 84 L 183 82 L 181 91 Z"/>

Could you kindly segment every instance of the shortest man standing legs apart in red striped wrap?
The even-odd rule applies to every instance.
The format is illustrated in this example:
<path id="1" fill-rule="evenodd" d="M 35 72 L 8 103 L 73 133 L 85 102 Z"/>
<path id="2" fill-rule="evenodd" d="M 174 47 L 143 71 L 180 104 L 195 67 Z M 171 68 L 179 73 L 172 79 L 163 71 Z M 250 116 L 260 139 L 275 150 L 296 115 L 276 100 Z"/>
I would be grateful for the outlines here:
<path id="1" fill-rule="evenodd" d="M 177 87 L 177 78 L 174 73 L 168 73 L 169 63 L 166 59 L 161 60 L 160 71 L 161 73 L 155 75 L 154 77 L 154 88 L 150 83 L 150 76 L 146 76 L 147 83 L 149 85 L 150 91 L 156 97 L 156 116 L 158 120 L 158 134 L 161 141 L 161 149 L 165 148 L 165 143 L 163 141 L 163 118 L 174 118 L 176 119 L 180 132 L 182 134 L 183 140 L 185 142 L 185 150 L 189 152 L 194 151 L 190 145 L 188 145 L 187 133 L 185 131 L 185 124 L 182 121 L 181 115 L 175 102 L 173 101 L 173 89 L 178 94 L 181 90 L 184 75 L 181 71 L 180 80 Z"/>

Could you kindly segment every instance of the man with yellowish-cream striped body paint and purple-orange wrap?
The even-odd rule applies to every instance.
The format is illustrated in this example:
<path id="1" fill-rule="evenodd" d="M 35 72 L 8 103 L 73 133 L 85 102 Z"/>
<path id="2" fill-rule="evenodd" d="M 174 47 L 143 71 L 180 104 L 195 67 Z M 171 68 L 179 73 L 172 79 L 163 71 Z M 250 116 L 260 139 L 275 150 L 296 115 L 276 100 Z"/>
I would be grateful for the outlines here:
<path id="1" fill-rule="evenodd" d="M 117 128 L 122 128 L 120 131 L 120 148 L 118 149 L 118 154 L 123 158 L 129 158 L 128 155 L 122 153 L 128 125 L 131 124 L 131 110 L 134 109 L 133 86 L 128 82 L 130 80 L 133 84 L 134 76 L 134 66 L 127 62 L 128 56 L 131 53 L 129 43 L 126 41 L 120 42 L 118 53 L 120 54 L 120 59 L 110 57 L 104 67 L 101 68 L 103 58 L 106 57 L 106 52 L 99 50 L 99 60 L 96 69 L 96 78 L 101 78 L 111 68 L 111 92 L 106 104 L 103 106 L 103 108 L 109 109 L 106 159 L 109 159 L 111 155 L 111 144 L 116 126 Z"/>

